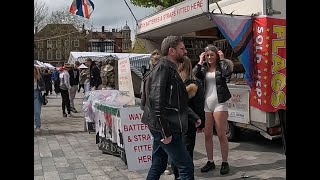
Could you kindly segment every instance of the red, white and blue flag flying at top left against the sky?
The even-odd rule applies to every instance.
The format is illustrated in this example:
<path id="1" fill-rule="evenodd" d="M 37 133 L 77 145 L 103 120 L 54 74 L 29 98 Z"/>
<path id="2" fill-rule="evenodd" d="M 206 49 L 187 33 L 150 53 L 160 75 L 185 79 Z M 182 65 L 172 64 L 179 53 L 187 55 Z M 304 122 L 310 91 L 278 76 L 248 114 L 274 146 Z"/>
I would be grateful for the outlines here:
<path id="1" fill-rule="evenodd" d="M 73 0 L 69 12 L 78 16 L 90 18 L 94 10 L 94 4 L 90 0 Z"/>

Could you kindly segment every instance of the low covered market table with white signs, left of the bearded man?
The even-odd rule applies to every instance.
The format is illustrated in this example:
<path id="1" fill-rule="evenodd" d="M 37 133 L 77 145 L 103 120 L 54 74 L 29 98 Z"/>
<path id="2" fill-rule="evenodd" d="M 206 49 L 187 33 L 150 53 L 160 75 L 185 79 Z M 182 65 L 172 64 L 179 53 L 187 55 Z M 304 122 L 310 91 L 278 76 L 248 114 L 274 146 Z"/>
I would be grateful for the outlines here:
<path id="1" fill-rule="evenodd" d="M 134 93 L 132 65 L 129 58 L 118 59 L 116 64 L 117 89 L 85 93 L 84 118 L 94 127 L 102 152 L 120 156 L 129 171 L 148 169 L 152 139 L 147 126 L 141 123 L 143 111 Z"/>

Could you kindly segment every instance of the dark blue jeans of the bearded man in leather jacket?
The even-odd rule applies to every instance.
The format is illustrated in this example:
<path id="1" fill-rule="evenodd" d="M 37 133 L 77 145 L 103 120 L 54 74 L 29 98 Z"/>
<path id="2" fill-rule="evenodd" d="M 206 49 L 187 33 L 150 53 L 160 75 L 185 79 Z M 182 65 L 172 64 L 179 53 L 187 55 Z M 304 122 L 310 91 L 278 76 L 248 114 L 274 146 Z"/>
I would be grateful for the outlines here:
<path id="1" fill-rule="evenodd" d="M 182 133 L 173 133 L 169 144 L 161 142 L 159 132 L 150 130 L 153 136 L 152 165 L 147 180 L 157 180 L 167 167 L 168 156 L 176 165 L 182 180 L 194 180 L 193 161 L 182 143 Z"/>

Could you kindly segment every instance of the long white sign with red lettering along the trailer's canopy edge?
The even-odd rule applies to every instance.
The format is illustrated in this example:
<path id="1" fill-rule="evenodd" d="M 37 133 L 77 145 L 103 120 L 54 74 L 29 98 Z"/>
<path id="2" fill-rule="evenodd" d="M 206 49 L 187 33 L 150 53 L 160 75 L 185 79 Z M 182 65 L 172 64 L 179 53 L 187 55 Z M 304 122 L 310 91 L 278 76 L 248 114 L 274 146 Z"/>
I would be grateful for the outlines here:
<path id="1" fill-rule="evenodd" d="M 208 0 L 186 0 L 138 21 L 137 34 L 208 12 Z"/>

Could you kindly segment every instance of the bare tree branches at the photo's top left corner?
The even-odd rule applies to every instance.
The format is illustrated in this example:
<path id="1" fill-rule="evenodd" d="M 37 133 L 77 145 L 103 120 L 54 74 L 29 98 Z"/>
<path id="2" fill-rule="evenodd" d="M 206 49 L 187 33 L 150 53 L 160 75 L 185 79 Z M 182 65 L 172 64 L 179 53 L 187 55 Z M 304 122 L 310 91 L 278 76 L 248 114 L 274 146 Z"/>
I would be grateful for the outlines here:
<path id="1" fill-rule="evenodd" d="M 33 15 L 34 15 L 34 23 L 33 27 L 41 29 L 45 24 L 45 19 L 48 15 L 48 6 L 44 2 L 38 2 L 38 0 L 33 1 Z"/>

